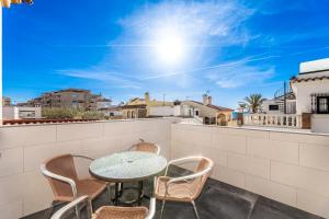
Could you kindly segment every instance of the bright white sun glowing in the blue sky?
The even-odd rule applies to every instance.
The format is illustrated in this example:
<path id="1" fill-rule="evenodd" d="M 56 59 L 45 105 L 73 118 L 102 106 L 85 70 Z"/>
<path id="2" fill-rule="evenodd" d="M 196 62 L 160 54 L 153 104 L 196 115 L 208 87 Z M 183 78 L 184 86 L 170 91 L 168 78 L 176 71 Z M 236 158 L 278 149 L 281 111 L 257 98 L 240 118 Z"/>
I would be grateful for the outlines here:
<path id="1" fill-rule="evenodd" d="M 173 30 L 162 30 L 157 34 L 156 53 L 161 62 L 179 64 L 185 55 L 183 36 Z"/>

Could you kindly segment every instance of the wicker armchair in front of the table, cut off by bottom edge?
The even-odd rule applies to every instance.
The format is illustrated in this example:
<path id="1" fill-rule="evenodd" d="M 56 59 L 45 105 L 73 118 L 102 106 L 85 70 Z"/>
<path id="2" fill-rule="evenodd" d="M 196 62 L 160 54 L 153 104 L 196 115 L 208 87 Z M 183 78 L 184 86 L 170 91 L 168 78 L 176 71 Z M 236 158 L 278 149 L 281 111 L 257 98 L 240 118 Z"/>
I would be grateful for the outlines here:
<path id="1" fill-rule="evenodd" d="M 87 206 L 87 219 L 152 219 L 156 214 L 156 199 L 151 198 L 149 209 L 146 207 L 103 206 L 91 215 L 90 199 L 88 196 L 81 196 L 55 212 L 52 219 L 67 218 L 73 208 L 80 210 L 84 206 Z"/>

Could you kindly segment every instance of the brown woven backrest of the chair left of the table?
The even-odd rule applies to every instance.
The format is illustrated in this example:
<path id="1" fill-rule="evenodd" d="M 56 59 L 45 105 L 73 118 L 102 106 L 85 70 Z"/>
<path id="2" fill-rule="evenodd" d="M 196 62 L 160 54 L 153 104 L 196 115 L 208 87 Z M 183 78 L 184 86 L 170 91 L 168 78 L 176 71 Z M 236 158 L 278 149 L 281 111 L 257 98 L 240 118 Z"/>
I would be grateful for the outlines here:
<path id="1" fill-rule="evenodd" d="M 73 157 L 71 154 L 63 154 L 58 157 L 50 158 L 49 160 L 44 162 L 44 166 L 47 171 L 55 173 L 57 175 L 61 175 L 68 178 L 78 181 L 76 166 Z M 69 184 L 64 183 L 61 181 L 55 180 L 53 177 L 46 176 L 53 193 L 55 195 L 55 199 L 57 197 L 72 197 L 72 191 Z"/>

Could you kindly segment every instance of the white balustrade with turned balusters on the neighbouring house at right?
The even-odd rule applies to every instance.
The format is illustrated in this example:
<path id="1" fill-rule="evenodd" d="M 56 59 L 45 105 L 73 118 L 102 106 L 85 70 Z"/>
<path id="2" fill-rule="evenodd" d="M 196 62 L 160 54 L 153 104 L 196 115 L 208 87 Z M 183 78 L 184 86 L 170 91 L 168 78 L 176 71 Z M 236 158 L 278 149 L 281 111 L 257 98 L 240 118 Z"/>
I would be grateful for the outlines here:
<path id="1" fill-rule="evenodd" d="M 302 128 L 302 116 L 292 115 L 266 115 L 266 114 L 245 114 L 243 125 L 271 126 L 282 128 Z"/>

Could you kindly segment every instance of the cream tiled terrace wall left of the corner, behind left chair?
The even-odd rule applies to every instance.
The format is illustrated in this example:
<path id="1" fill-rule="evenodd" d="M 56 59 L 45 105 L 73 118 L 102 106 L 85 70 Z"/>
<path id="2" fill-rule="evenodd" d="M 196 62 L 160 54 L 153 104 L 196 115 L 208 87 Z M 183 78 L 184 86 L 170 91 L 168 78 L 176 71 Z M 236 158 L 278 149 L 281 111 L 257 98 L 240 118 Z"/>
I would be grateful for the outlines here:
<path id="1" fill-rule="evenodd" d="M 0 127 L 0 219 L 18 219 L 48 208 L 54 198 L 39 164 L 63 153 L 99 158 L 127 150 L 140 138 L 156 142 L 170 159 L 170 124 L 174 119 Z M 79 173 L 88 163 L 77 164 Z M 84 172 L 81 170 L 84 170 Z"/>

